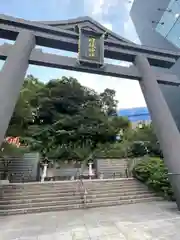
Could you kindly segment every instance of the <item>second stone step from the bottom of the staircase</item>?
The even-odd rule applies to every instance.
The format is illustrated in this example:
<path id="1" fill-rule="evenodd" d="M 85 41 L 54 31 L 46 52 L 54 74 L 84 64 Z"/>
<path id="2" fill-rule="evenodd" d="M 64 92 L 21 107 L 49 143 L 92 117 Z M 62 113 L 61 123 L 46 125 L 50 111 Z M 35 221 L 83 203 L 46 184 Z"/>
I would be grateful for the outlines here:
<path id="1" fill-rule="evenodd" d="M 97 203 L 97 202 L 104 202 L 104 201 L 122 201 L 122 200 L 130 200 L 130 199 L 140 199 L 140 198 L 149 198 L 154 196 L 153 194 L 147 193 L 147 194 L 138 194 L 138 195 L 132 195 L 132 196 L 108 196 L 106 198 L 103 197 L 96 197 L 93 200 L 88 199 L 87 197 L 87 203 L 93 202 L 93 203 Z M 70 205 L 73 204 L 81 204 L 82 203 L 82 199 L 69 199 L 68 201 L 65 200 L 61 200 L 61 201 L 57 201 L 56 199 L 51 199 L 50 201 L 43 201 L 43 202 L 30 202 L 30 203 L 18 203 L 18 204 L 4 204 L 2 206 L 0 206 L 0 210 L 8 210 L 8 209 L 24 209 L 24 208 L 31 208 L 31 207 L 44 207 L 44 206 L 52 206 L 52 205 L 66 205 L 67 203 Z"/>

